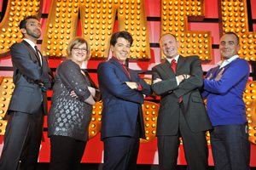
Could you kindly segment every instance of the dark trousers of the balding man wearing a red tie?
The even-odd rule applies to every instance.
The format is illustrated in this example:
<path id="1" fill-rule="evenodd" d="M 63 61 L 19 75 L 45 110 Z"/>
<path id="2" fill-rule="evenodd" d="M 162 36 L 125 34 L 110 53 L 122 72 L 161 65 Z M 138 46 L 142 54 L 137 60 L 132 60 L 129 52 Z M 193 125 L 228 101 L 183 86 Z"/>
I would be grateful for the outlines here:
<path id="1" fill-rule="evenodd" d="M 208 169 L 208 147 L 206 132 L 194 133 L 184 117 L 183 102 L 180 104 L 178 132 L 176 135 L 158 136 L 160 170 L 177 169 L 179 138 L 183 139 L 183 148 L 189 170 Z"/>

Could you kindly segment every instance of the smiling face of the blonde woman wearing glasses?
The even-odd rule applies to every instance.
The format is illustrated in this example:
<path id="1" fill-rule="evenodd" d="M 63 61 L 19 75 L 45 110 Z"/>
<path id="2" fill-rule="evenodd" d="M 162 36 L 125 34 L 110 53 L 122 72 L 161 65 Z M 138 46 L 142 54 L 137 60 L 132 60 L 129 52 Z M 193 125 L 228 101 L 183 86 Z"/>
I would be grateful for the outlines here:
<path id="1" fill-rule="evenodd" d="M 87 46 L 86 43 L 82 43 L 81 45 L 76 44 L 73 46 L 71 50 L 71 60 L 77 63 L 78 65 L 82 65 L 84 60 L 87 57 Z"/>

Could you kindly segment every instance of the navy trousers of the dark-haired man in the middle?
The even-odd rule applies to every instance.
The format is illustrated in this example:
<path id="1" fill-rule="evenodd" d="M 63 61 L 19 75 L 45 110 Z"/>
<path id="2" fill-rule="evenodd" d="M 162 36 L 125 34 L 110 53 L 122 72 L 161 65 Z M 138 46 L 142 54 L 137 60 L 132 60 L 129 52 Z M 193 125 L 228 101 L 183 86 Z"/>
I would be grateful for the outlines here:
<path id="1" fill-rule="evenodd" d="M 139 123 L 134 136 L 109 137 L 104 143 L 103 170 L 136 170 L 140 144 Z"/>

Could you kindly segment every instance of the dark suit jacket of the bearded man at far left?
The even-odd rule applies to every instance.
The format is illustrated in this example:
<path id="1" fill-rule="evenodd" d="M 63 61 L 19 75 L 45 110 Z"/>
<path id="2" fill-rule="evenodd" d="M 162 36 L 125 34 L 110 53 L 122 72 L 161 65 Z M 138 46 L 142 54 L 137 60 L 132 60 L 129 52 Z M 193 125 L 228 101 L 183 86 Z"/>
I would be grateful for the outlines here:
<path id="1" fill-rule="evenodd" d="M 15 91 L 9 104 L 9 111 L 34 114 L 38 112 L 43 102 L 44 115 L 46 115 L 47 96 L 38 83 L 44 83 L 47 89 L 52 86 L 53 74 L 49 69 L 47 59 L 42 57 L 41 67 L 36 51 L 25 40 L 13 44 L 10 54 L 14 66 Z"/>

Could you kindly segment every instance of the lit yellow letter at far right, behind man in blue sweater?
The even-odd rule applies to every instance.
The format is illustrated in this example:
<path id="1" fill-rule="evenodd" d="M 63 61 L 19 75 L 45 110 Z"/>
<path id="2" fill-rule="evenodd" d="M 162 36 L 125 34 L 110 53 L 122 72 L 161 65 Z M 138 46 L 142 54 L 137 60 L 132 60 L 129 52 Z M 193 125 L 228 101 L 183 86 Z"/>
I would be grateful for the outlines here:
<path id="1" fill-rule="evenodd" d="M 256 33 L 248 29 L 246 0 L 218 0 L 219 16 L 221 18 L 219 35 L 228 31 L 236 32 L 241 38 L 239 57 L 256 61 Z"/>

